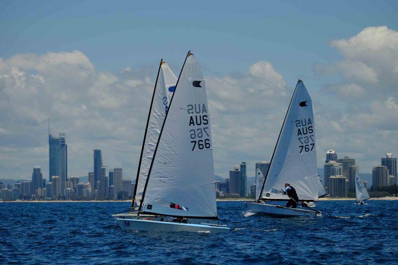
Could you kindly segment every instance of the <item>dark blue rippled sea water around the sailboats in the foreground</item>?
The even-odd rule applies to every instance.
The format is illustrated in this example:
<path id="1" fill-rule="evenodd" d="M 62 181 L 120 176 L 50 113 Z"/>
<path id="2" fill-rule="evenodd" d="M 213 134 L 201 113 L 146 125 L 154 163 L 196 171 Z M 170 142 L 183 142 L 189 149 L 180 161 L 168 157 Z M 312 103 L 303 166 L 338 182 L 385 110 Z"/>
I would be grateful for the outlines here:
<path id="1" fill-rule="evenodd" d="M 224 234 L 121 231 L 111 214 L 129 206 L 1 203 L 0 263 L 398 262 L 398 201 L 321 202 L 324 216 L 313 218 L 250 215 L 243 202 L 218 202 L 231 227 Z"/>

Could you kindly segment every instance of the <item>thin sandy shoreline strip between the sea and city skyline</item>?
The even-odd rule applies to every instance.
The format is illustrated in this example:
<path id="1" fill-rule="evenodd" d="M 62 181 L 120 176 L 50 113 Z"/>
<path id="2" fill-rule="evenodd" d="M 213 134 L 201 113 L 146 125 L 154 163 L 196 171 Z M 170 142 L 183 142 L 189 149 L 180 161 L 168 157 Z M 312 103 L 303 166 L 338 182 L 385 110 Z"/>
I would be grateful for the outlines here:
<path id="1" fill-rule="evenodd" d="M 250 198 L 218 198 L 217 202 L 252 202 Z M 323 201 L 355 201 L 355 198 L 319 198 L 320 202 Z M 398 197 L 375 197 L 370 198 L 369 201 L 398 201 Z M 0 203 L 131 203 L 131 200 L 101 200 L 101 201 L 76 201 L 76 200 L 59 200 L 59 201 L 0 201 Z"/>

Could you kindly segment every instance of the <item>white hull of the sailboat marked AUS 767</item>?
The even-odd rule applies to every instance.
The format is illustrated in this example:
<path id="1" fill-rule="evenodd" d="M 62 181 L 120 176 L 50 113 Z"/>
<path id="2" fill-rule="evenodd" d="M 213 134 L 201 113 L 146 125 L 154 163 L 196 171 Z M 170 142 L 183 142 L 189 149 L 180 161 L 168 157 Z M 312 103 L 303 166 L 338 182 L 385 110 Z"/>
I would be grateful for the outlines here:
<path id="1" fill-rule="evenodd" d="M 291 216 L 322 216 L 321 212 L 304 210 L 304 209 L 295 209 L 295 208 L 287 208 L 280 205 L 270 205 L 270 204 L 261 204 L 261 203 L 245 203 L 246 209 L 248 211 L 254 213 L 263 213 L 272 216 L 279 217 L 291 217 Z"/>

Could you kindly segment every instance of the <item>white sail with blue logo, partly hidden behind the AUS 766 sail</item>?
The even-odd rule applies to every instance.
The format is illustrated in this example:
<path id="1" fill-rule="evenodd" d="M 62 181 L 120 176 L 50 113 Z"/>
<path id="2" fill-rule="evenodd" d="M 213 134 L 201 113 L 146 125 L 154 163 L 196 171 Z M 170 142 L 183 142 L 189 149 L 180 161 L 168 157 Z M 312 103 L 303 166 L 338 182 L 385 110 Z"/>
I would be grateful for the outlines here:
<path id="1" fill-rule="evenodd" d="M 139 168 L 138 181 L 134 201 L 139 205 L 144 191 L 146 178 L 156 144 L 158 143 L 160 130 L 162 128 L 171 96 L 175 89 L 177 78 L 171 71 L 165 61 L 161 62 L 159 69 L 158 81 L 155 87 L 155 94 L 152 101 L 152 107 L 149 113 L 148 127 L 146 130 L 145 142 L 143 145 L 143 152 L 141 164 Z"/>

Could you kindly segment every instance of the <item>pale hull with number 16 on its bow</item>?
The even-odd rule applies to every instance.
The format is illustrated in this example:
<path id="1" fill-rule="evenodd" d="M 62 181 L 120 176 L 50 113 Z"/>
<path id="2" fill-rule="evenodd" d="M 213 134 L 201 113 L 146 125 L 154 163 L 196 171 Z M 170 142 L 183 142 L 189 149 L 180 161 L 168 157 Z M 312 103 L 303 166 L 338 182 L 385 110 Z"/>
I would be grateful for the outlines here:
<path id="1" fill-rule="evenodd" d="M 194 223 L 177 223 L 170 221 L 155 221 L 143 219 L 116 219 L 117 225 L 122 230 L 137 230 L 137 231 L 167 231 L 167 232 L 202 232 L 202 233 L 220 233 L 226 232 L 230 229 L 224 226 L 215 226 L 208 224 L 194 224 Z"/>

